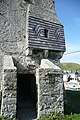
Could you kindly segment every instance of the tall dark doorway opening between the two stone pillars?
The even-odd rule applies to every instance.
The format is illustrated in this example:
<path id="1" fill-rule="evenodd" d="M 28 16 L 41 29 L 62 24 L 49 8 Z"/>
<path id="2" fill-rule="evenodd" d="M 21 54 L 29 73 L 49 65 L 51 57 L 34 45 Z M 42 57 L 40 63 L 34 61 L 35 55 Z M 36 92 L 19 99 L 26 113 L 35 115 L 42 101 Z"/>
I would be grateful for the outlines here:
<path id="1" fill-rule="evenodd" d="M 18 74 L 17 76 L 17 118 L 32 120 L 37 118 L 37 87 L 33 74 Z"/>

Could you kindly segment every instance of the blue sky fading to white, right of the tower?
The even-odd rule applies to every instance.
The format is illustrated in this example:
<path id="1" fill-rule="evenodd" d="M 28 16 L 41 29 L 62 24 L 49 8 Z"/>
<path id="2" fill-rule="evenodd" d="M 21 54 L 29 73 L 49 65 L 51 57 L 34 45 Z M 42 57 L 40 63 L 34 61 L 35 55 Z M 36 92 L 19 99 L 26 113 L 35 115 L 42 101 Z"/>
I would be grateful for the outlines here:
<path id="1" fill-rule="evenodd" d="M 66 42 L 61 62 L 80 64 L 80 0 L 55 0 L 55 9 L 64 26 Z"/>

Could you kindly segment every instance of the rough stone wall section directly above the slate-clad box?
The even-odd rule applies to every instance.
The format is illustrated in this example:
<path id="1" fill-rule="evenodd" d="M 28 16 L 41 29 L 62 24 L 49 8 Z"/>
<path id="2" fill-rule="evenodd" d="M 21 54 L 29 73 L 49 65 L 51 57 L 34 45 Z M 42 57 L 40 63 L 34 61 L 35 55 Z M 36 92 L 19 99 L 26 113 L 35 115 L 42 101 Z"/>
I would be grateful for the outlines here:
<path id="1" fill-rule="evenodd" d="M 30 6 L 29 15 L 61 24 L 55 12 L 55 3 L 52 0 L 34 0 Z"/>

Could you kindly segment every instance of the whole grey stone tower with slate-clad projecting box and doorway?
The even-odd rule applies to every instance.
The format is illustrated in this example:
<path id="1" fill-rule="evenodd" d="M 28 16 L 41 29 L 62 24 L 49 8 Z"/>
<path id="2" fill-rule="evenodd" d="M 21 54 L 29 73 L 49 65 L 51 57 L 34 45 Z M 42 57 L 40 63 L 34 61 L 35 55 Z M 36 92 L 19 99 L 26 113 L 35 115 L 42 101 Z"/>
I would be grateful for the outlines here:
<path id="1" fill-rule="evenodd" d="M 64 52 L 64 27 L 54 0 L 0 0 L 1 114 L 32 120 L 63 113 L 57 65 Z"/>

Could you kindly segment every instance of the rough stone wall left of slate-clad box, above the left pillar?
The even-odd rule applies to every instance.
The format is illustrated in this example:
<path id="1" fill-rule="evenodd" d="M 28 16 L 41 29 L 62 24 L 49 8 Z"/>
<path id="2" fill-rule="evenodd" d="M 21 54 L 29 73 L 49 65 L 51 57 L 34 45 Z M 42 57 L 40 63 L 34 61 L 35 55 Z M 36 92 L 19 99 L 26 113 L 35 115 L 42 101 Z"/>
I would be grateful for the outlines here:
<path id="1" fill-rule="evenodd" d="M 26 9 L 22 0 L 0 0 L 0 49 L 5 54 L 24 51 Z"/>

